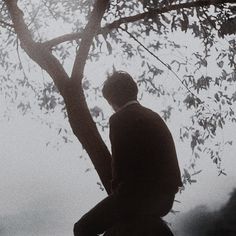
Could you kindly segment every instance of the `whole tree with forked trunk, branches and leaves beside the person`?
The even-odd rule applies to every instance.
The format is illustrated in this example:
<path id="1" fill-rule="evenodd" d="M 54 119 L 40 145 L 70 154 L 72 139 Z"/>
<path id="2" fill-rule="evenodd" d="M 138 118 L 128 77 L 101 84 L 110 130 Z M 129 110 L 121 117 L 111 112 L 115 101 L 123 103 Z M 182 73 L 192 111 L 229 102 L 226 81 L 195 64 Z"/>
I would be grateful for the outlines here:
<path id="1" fill-rule="evenodd" d="M 24 9 L 24 12 L 21 9 Z M 63 100 L 59 99 L 59 103 L 66 107 L 73 133 L 87 151 L 109 193 L 110 153 L 92 118 L 92 115 L 96 116 L 101 111 L 97 107 L 89 109 L 86 103 L 85 93 L 89 85 L 88 81 L 83 80 L 84 69 L 87 60 L 97 60 L 105 50 L 109 54 L 117 53 L 115 44 L 119 45 L 119 49 L 123 50 L 122 53 L 127 55 L 127 58 L 138 55 L 142 59 L 141 66 L 144 71 L 138 84 L 156 96 L 172 97 L 178 107 L 184 104 L 185 108 L 192 112 L 192 124 L 180 130 L 180 138 L 189 142 L 193 152 L 193 160 L 190 163 L 193 173 L 185 169 L 183 180 L 185 183 L 192 183 L 192 175 L 199 172 L 194 168 L 200 153 L 208 153 L 217 165 L 219 174 L 224 174 L 219 150 L 222 145 L 231 144 L 231 141 L 214 143 L 213 148 L 206 148 L 204 145 L 206 146 L 210 139 L 214 140 L 218 129 L 223 128 L 226 120 L 236 121 L 233 110 L 236 93 L 230 89 L 230 85 L 236 81 L 235 39 L 231 36 L 236 32 L 235 9 L 234 0 L 4 0 L 1 3 L 0 24 L 7 47 L 1 48 L 2 68 L 5 71 L 10 67 L 22 69 L 21 60 L 19 65 L 7 60 L 7 48 L 10 47 L 17 49 L 20 59 L 20 44 L 29 58 L 48 73 L 54 84 L 48 84 L 41 96 L 38 96 L 41 106 L 53 109 L 58 102 L 55 94 L 62 96 Z M 67 25 L 72 33 L 49 39 L 45 33 L 45 29 L 50 29 L 49 20 L 53 20 L 55 24 L 61 22 Z M 182 47 L 169 38 L 180 31 L 192 35 L 194 40 L 202 44 L 203 51 L 186 55 L 184 60 L 163 61 L 157 56 L 158 50 L 165 47 L 177 50 Z M 125 34 L 132 42 L 124 37 Z M 162 42 L 153 38 L 157 35 Z M 223 38 L 229 42 L 228 48 L 219 46 Z M 69 75 L 63 64 L 68 63 L 68 56 L 73 55 L 75 49 L 75 59 Z M 149 63 L 148 54 L 161 63 L 162 67 L 157 68 Z M 189 58 L 194 58 L 190 71 Z M 217 64 L 220 74 L 208 75 L 203 72 L 212 60 Z M 161 84 L 156 86 L 155 77 L 163 76 L 164 70 L 172 73 L 182 87 L 166 92 Z M 9 82 L 11 78 L 5 75 L 1 80 Z M 27 78 L 24 83 L 35 89 L 27 82 Z M 12 81 L 12 84 L 10 89 L 17 89 L 15 81 Z M 183 89 L 187 95 L 178 96 Z M 200 95 L 206 92 L 210 93 L 209 99 L 203 101 Z M 19 108 L 25 110 L 27 105 L 19 104 Z M 163 110 L 165 119 L 169 118 L 172 109 L 170 106 Z M 179 109 L 183 109 L 183 106 Z"/>

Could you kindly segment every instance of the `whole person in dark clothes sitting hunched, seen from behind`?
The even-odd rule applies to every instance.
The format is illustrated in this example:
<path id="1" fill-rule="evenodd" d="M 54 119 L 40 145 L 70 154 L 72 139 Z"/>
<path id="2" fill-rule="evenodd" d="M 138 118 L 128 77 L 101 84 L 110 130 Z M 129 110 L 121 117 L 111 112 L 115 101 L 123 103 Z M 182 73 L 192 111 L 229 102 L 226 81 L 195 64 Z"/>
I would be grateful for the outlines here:
<path id="1" fill-rule="evenodd" d="M 133 219 L 158 220 L 182 186 L 171 133 L 157 113 L 139 104 L 132 77 L 116 71 L 102 92 L 115 111 L 109 120 L 112 193 L 74 225 L 75 236 L 96 236 Z"/>

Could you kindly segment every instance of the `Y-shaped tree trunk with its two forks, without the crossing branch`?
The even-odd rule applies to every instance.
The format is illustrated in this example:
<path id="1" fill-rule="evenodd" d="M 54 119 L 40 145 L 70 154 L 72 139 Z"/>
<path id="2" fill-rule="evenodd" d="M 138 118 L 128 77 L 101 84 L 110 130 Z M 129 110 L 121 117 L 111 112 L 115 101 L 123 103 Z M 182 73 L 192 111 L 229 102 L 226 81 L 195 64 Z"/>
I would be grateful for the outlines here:
<path id="1" fill-rule="evenodd" d="M 17 6 L 17 1 L 5 0 L 22 48 L 32 60 L 52 77 L 56 87 L 64 98 L 73 133 L 87 151 L 106 191 L 109 193 L 111 155 L 90 115 L 81 84 L 92 39 L 97 32 L 97 28 L 106 9 L 107 1 L 103 1 L 102 7 L 98 2 L 100 3 L 101 1 L 96 1 L 93 13 L 82 36 L 80 46 L 84 48 L 80 49 L 77 53 L 72 73 L 74 79 L 71 79 L 59 60 L 52 55 L 49 48 L 45 47 L 45 44 L 37 43 L 33 40 L 24 22 L 23 12 Z"/>

